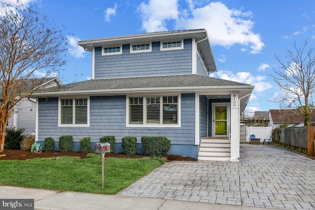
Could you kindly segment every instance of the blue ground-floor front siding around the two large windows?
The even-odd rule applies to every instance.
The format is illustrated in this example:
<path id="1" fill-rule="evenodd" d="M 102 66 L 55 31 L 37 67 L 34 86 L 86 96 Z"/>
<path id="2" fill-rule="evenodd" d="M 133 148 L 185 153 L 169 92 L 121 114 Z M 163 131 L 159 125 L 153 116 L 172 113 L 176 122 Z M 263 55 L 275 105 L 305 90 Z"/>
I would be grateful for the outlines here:
<path id="1" fill-rule="evenodd" d="M 125 95 L 90 97 L 90 127 L 58 127 L 58 98 L 39 98 L 38 141 L 42 143 L 46 137 L 52 137 L 57 142 L 55 150 L 59 150 L 59 137 L 72 135 L 73 150 L 78 151 L 79 140 L 83 137 L 91 137 L 91 142 L 95 143 L 102 136 L 115 136 L 117 145 L 120 145 L 125 136 L 137 137 L 138 143 L 142 136 L 164 136 L 171 140 L 170 153 L 196 158 L 194 100 L 194 93 L 181 95 L 181 127 L 178 128 L 126 127 Z M 115 152 L 122 152 L 121 147 L 116 146 Z"/>

